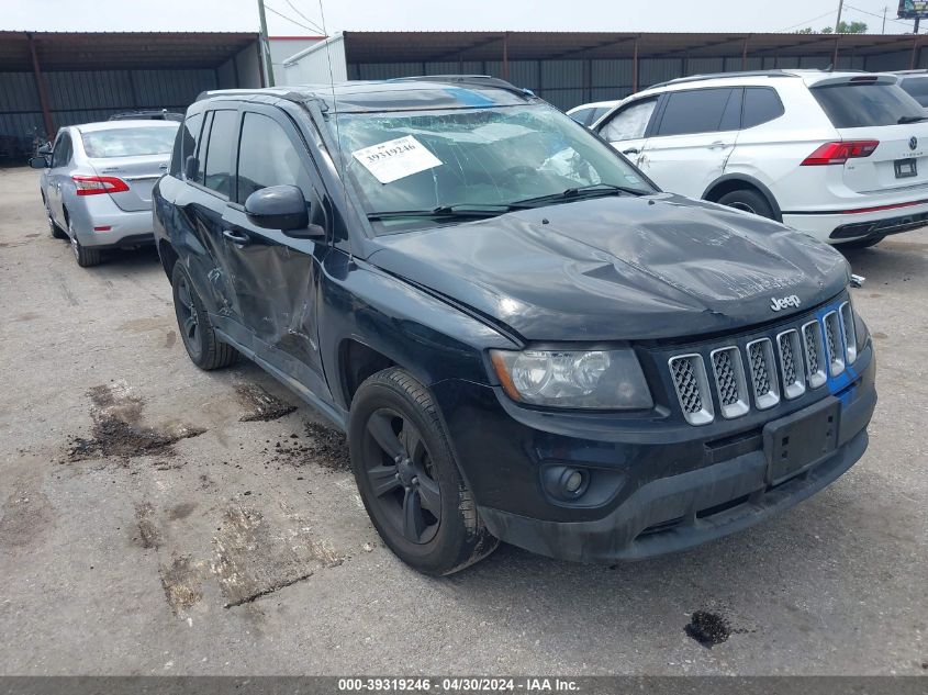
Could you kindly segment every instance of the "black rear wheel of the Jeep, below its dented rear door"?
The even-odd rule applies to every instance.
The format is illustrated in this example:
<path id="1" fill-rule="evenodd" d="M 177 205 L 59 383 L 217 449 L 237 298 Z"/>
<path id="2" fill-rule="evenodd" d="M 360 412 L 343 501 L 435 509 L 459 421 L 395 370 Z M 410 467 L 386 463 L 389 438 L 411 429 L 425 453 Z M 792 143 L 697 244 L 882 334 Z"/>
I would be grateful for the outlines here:
<path id="1" fill-rule="evenodd" d="M 210 315 L 197 294 L 190 276 L 179 262 L 174 266 L 171 288 L 180 338 L 190 360 L 206 371 L 232 365 L 238 352 L 216 337 Z"/>

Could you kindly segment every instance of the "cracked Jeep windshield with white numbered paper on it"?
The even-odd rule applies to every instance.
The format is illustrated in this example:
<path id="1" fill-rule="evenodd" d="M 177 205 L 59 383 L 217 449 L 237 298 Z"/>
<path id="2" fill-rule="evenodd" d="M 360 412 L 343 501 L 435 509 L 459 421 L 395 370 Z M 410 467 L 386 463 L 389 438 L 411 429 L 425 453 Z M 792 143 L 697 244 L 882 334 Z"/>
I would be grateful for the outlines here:
<path id="1" fill-rule="evenodd" d="M 340 114 L 347 178 L 381 233 L 653 189 L 547 107 Z"/>

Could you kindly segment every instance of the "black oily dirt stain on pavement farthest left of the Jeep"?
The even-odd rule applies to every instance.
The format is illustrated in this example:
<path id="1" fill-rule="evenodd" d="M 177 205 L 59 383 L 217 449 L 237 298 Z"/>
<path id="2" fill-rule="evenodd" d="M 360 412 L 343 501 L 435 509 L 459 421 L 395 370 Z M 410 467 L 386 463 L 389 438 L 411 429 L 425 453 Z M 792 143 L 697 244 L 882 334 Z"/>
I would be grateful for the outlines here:
<path id="1" fill-rule="evenodd" d="M 68 439 L 69 461 L 102 456 L 130 459 L 137 456 L 171 456 L 172 445 L 181 439 L 202 435 L 205 429 L 181 426 L 169 430 L 139 424 L 144 402 L 130 392 L 125 382 L 93 386 L 88 391 L 92 402 L 91 437 Z"/>

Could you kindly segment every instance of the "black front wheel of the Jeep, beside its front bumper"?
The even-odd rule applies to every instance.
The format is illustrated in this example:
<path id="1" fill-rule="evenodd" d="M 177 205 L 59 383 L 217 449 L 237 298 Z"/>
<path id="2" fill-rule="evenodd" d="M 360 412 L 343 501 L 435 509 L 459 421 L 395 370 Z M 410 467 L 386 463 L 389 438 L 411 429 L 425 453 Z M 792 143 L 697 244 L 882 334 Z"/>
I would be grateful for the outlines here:
<path id="1" fill-rule="evenodd" d="M 365 381 L 348 425 L 351 468 L 383 542 L 425 574 L 451 574 L 496 549 L 461 478 L 428 391 L 409 372 Z"/>

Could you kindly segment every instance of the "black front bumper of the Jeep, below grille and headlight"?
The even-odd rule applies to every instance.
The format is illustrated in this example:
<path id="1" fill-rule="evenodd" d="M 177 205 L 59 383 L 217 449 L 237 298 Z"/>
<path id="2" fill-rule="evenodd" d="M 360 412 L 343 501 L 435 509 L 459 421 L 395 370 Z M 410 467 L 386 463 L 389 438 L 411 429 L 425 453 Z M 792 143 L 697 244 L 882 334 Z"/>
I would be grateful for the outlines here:
<path id="1" fill-rule="evenodd" d="M 856 378 L 840 391 L 824 390 L 790 413 L 802 416 L 836 403 L 836 449 L 775 485 L 762 436 L 765 422 L 775 417 L 740 427 L 641 423 L 616 431 L 595 419 L 579 427 L 558 416 L 516 422 L 516 406 L 485 386 L 441 382 L 433 390 L 490 533 L 552 558 L 611 562 L 684 550 L 741 530 L 840 477 L 866 449 L 865 428 L 876 404 L 872 348 L 856 367 Z M 541 470 L 551 461 L 592 471 L 584 497 L 592 494 L 594 504 L 567 504 L 546 494 Z"/>

